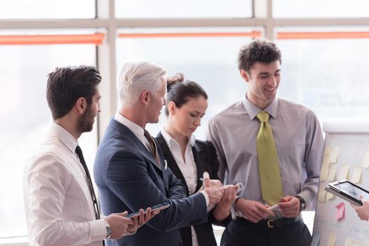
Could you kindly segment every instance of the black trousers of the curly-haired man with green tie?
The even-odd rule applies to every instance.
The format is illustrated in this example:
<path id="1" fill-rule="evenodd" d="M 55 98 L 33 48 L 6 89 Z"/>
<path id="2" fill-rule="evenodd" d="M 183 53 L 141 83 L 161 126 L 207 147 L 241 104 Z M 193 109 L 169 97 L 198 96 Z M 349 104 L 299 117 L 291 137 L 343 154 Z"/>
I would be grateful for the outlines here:
<path id="1" fill-rule="evenodd" d="M 222 246 L 310 246 L 311 234 L 302 219 L 277 221 L 268 225 L 268 221 L 256 224 L 237 217 L 225 228 L 220 245 Z M 273 228 L 270 228 L 273 226 Z"/>

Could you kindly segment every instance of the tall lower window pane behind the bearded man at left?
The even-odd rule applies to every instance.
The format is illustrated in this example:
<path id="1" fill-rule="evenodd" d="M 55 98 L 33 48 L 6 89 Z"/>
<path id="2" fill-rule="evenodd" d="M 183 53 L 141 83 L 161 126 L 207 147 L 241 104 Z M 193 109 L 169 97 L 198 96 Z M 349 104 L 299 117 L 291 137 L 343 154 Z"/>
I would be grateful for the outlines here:
<path id="1" fill-rule="evenodd" d="M 0 38 L 1 39 L 1 38 Z M 96 65 L 93 44 L 0 46 L 0 238 L 27 235 L 23 209 L 23 169 L 32 147 L 49 127 L 46 79 L 54 67 Z M 95 153 L 95 130 L 83 134 L 85 153 Z M 86 155 L 93 163 L 94 155 Z"/>

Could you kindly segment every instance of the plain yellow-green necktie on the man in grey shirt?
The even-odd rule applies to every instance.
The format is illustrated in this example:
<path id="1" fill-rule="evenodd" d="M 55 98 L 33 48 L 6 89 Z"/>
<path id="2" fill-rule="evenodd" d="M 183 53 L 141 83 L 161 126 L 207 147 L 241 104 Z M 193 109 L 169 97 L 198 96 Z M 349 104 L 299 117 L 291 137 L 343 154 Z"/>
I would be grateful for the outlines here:
<path id="1" fill-rule="evenodd" d="M 268 205 L 275 205 L 283 196 L 280 162 L 275 149 L 273 131 L 268 123 L 268 112 L 261 111 L 256 117 L 261 122 L 256 138 L 261 197 Z"/>

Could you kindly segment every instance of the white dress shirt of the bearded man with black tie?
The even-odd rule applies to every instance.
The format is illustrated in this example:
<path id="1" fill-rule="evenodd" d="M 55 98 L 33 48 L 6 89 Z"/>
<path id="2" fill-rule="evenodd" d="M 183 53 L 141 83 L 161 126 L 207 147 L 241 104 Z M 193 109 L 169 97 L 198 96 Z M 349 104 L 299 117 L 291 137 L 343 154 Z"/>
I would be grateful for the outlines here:
<path id="1" fill-rule="evenodd" d="M 30 245 L 101 246 L 104 219 L 96 220 L 75 138 L 52 123 L 25 167 L 23 194 Z"/>

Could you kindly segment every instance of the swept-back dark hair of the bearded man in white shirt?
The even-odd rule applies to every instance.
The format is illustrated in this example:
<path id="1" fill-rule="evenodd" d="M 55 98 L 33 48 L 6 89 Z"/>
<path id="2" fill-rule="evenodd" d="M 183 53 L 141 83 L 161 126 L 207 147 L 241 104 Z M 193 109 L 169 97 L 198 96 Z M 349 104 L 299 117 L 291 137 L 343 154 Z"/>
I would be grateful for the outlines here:
<path id="1" fill-rule="evenodd" d="M 92 103 L 96 86 L 101 82 L 99 70 L 93 66 L 56 67 L 47 79 L 46 98 L 53 119 L 59 119 L 72 110 L 78 98 Z"/>

